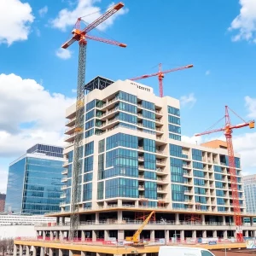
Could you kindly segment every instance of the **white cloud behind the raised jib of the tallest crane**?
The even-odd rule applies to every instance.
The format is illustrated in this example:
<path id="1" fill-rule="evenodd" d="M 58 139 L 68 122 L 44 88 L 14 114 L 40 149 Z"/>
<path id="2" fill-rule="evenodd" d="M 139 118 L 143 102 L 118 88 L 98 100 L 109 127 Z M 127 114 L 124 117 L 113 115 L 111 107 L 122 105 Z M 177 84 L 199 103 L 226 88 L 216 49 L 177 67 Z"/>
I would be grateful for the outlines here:
<path id="1" fill-rule="evenodd" d="M 51 26 L 60 29 L 61 31 L 66 31 L 68 26 L 74 26 L 79 17 L 87 15 L 83 20 L 87 23 L 91 23 L 96 20 L 102 11 L 95 3 L 100 2 L 99 0 L 78 0 L 78 4 L 74 9 L 61 9 L 58 16 L 50 21 Z M 112 6 L 113 4 L 111 4 Z M 110 6 L 108 6 L 109 8 Z M 101 25 L 97 26 L 99 30 L 104 31 L 108 26 L 113 25 L 113 21 L 119 16 L 124 15 L 128 12 L 128 9 L 120 9 L 116 14 L 109 17 Z"/>

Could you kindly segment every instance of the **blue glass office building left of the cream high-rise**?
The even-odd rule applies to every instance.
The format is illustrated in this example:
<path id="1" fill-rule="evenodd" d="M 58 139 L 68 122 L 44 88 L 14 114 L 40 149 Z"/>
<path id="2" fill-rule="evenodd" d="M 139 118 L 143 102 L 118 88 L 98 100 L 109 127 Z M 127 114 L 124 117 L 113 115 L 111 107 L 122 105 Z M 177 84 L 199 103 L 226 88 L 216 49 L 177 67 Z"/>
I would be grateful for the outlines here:
<path id="1" fill-rule="evenodd" d="M 10 164 L 6 211 L 32 215 L 59 211 L 62 151 L 37 144 Z"/>

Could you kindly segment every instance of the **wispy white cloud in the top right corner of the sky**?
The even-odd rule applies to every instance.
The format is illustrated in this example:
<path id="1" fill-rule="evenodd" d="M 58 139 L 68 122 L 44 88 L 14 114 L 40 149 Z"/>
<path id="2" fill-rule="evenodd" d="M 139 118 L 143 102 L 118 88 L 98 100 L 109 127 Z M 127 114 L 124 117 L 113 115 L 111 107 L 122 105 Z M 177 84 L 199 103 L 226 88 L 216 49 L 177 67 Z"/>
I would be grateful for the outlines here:
<path id="1" fill-rule="evenodd" d="M 240 14 L 232 21 L 229 30 L 236 31 L 233 41 L 247 40 L 256 43 L 256 1 L 240 0 Z"/>

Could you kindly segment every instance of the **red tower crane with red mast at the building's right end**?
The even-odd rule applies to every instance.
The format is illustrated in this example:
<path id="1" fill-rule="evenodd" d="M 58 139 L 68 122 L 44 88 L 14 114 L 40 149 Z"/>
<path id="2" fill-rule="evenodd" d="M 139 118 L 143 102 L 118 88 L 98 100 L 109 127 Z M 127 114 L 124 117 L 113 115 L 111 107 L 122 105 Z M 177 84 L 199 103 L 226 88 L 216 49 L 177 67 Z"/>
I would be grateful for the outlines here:
<path id="1" fill-rule="evenodd" d="M 222 118 L 222 119 L 225 119 L 225 125 L 223 128 L 219 128 L 212 131 L 205 131 L 202 133 L 197 133 L 195 134 L 195 136 L 201 136 L 201 135 L 210 134 L 218 131 L 224 131 L 224 136 L 226 137 L 226 141 L 227 141 L 229 166 L 230 166 L 230 182 L 231 182 L 231 190 L 232 190 L 234 218 L 235 218 L 235 224 L 236 224 L 236 240 L 243 241 L 242 230 L 241 230 L 241 224 L 242 224 L 241 207 L 239 203 L 239 194 L 238 194 L 238 188 L 237 188 L 236 162 L 235 162 L 234 149 L 233 149 L 233 143 L 232 143 L 232 132 L 234 129 L 239 129 L 246 126 L 249 126 L 250 129 L 254 128 L 254 120 L 246 122 L 244 119 L 241 119 L 241 117 L 238 114 L 236 114 L 233 110 L 230 109 L 230 111 L 235 113 L 236 116 L 243 121 L 243 123 L 239 125 L 231 125 L 229 109 L 230 108 L 228 106 L 225 106 L 225 115 Z"/>

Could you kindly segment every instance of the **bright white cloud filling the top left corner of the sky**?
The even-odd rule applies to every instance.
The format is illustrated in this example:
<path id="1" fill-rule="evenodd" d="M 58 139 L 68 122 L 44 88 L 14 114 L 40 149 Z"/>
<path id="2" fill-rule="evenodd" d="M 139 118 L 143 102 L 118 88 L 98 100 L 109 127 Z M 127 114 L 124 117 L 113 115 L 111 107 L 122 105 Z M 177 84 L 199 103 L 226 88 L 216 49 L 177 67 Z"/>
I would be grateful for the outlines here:
<path id="1" fill-rule="evenodd" d="M 0 1 L 0 44 L 26 40 L 34 20 L 29 3 L 20 0 Z"/>

